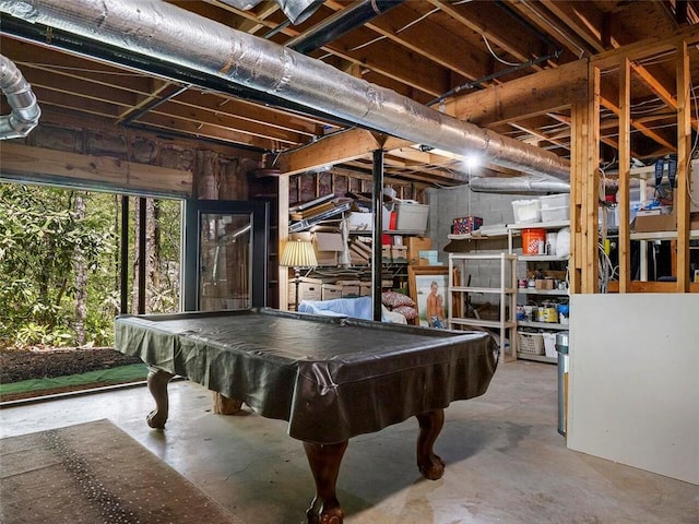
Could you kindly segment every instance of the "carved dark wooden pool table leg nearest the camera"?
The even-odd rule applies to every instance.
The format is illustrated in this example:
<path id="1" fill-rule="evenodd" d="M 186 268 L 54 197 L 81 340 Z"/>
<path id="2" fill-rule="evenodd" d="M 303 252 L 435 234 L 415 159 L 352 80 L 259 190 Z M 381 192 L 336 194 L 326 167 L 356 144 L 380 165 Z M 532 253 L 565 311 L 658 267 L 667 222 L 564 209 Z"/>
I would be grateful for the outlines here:
<path id="1" fill-rule="evenodd" d="M 316 481 L 316 497 L 306 511 L 308 524 L 342 524 L 345 514 L 337 501 L 335 483 L 346 449 L 347 441 L 337 444 L 304 442 Z"/>

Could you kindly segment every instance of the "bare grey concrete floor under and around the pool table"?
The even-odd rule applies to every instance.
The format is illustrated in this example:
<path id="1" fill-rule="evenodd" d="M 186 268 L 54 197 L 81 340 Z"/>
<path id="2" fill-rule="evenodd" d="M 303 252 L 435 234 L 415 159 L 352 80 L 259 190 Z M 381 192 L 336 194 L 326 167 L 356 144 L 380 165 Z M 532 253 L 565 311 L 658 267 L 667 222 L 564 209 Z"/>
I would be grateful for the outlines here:
<path id="1" fill-rule="evenodd" d="M 699 487 L 566 449 L 556 367 L 500 365 L 488 392 L 453 403 L 430 481 L 415 466 L 414 419 L 350 442 L 337 480 L 347 524 L 699 523 Z M 286 422 L 212 413 L 211 393 L 171 383 L 165 431 L 145 388 L 0 410 L 0 437 L 108 418 L 246 524 L 305 522 L 313 483 Z"/>

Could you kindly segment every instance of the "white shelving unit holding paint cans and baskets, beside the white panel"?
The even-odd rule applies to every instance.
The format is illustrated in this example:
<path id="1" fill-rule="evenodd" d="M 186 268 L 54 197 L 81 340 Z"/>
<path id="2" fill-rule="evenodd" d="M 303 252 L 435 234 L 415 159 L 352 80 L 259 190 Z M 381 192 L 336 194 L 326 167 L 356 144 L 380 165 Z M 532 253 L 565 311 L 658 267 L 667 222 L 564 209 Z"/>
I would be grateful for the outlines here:
<path id="1" fill-rule="evenodd" d="M 535 224 L 509 224 L 508 246 L 513 252 L 513 237 L 521 235 L 523 229 L 544 229 L 547 233 L 558 233 L 568 227 L 569 222 L 543 222 Z M 568 255 L 556 254 L 518 254 L 517 260 L 523 262 L 526 267 L 526 286 L 518 285 L 517 303 L 525 311 L 525 320 L 518 320 L 518 358 L 556 362 L 555 352 L 546 352 L 555 343 L 555 334 L 561 330 L 568 330 L 568 318 L 559 313 L 559 303 L 568 305 L 567 270 Z M 550 277 L 557 271 L 558 278 Z M 530 278 L 532 273 L 542 272 L 541 276 L 548 278 Z M 521 276 L 520 281 L 524 276 Z M 534 285 L 532 286 L 532 281 Z M 559 287 L 559 283 L 562 285 Z M 541 285 L 544 284 L 544 285 Z M 561 322 L 562 319 L 562 322 Z"/>

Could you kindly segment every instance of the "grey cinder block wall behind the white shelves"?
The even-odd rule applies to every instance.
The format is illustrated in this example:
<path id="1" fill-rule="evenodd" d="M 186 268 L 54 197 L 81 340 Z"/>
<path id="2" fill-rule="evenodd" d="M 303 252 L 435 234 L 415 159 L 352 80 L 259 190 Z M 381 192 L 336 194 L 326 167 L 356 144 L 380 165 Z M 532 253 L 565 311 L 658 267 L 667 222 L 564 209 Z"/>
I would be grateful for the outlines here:
<path id="1" fill-rule="evenodd" d="M 433 249 L 439 252 L 439 261 L 445 265 L 449 264 L 449 253 L 445 252 L 445 247 L 450 242 L 448 235 L 451 233 L 454 218 L 475 215 L 483 218 L 483 224 L 487 226 L 510 224 L 514 222 L 512 201 L 535 198 L 522 194 L 474 192 L 467 186 L 453 189 L 430 188 L 426 191 L 426 195 L 429 203 L 427 233 L 433 240 Z M 497 252 L 502 251 L 497 250 Z M 522 267 L 518 265 L 518 276 L 523 276 L 525 272 L 523 264 Z M 469 274 L 472 286 L 499 286 L 500 266 L 491 261 L 470 263 Z"/>

